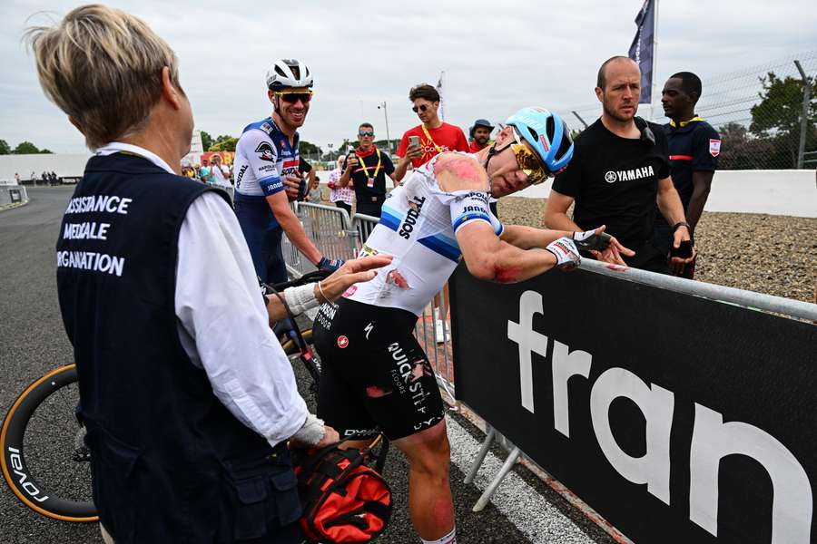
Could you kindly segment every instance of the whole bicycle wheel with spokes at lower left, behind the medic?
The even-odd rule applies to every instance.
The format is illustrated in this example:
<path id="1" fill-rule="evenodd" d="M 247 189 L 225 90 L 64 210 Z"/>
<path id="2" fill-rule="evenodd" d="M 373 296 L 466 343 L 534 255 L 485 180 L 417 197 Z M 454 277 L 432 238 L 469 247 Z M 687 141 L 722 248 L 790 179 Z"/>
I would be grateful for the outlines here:
<path id="1" fill-rule="evenodd" d="M 6 483 L 25 506 L 54 520 L 96 521 L 77 403 L 75 364 L 26 387 L 5 415 L 0 461 Z"/>

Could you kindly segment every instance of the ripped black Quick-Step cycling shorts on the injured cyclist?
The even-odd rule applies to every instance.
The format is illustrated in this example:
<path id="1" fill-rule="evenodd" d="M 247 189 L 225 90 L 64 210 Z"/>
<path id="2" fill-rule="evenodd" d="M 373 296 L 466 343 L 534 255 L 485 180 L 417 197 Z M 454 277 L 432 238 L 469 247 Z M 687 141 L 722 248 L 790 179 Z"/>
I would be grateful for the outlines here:
<path id="1" fill-rule="evenodd" d="M 349 436 L 379 428 L 397 440 L 443 418 L 428 357 L 412 335 L 417 316 L 341 298 L 312 326 L 321 374 L 318 417 Z"/>

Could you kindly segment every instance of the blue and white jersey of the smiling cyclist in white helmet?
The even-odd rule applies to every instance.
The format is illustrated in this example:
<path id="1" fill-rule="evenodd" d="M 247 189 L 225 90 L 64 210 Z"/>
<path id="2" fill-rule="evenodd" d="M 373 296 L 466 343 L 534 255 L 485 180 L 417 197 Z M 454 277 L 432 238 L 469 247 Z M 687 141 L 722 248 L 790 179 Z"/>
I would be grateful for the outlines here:
<path id="1" fill-rule="evenodd" d="M 298 142 L 290 146 L 286 134 L 270 117 L 253 122 L 241 132 L 235 146 L 236 199 L 264 199 L 284 189 L 283 179 L 298 172 Z"/>

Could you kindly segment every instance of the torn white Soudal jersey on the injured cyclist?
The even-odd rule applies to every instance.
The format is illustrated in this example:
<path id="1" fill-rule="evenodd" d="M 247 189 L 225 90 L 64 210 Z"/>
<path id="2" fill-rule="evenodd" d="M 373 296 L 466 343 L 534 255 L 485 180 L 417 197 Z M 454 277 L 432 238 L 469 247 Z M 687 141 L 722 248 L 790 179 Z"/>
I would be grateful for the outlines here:
<path id="1" fill-rule="evenodd" d="M 469 155 L 468 153 L 462 153 Z M 371 281 L 349 288 L 344 296 L 369 305 L 402 308 L 420 316 L 454 273 L 462 255 L 456 234 L 471 221 L 485 221 L 502 234 L 502 224 L 488 208 L 486 191 L 444 191 L 434 175 L 438 155 L 414 170 L 389 193 L 360 257 L 393 257 Z"/>

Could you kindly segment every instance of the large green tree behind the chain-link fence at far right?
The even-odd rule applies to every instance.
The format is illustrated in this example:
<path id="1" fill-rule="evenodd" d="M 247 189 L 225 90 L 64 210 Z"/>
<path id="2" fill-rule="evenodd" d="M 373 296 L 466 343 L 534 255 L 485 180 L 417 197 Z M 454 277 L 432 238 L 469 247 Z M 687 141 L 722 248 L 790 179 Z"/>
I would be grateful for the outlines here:
<path id="1" fill-rule="evenodd" d="M 786 76 L 780 79 L 773 72 L 760 78 L 763 91 L 759 93 L 761 102 L 752 107 L 752 124 L 749 130 L 760 138 L 774 144 L 774 166 L 795 168 L 800 146 L 802 115 L 802 80 Z M 814 78 L 809 84 L 814 89 Z M 817 92 L 812 92 L 806 125 L 806 149 L 812 149 L 815 141 L 817 122 Z"/>

